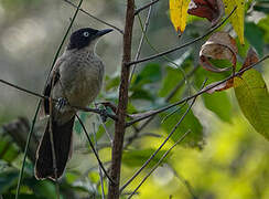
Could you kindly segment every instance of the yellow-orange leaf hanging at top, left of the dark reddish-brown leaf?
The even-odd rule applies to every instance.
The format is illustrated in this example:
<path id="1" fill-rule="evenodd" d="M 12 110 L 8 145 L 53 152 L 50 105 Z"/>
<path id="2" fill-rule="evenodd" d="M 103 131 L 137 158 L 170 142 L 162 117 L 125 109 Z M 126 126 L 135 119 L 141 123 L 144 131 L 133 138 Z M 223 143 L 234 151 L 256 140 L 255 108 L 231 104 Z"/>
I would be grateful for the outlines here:
<path id="1" fill-rule="evenodd" d="M 187 8 L 191 0 L 170 0 L 170 19 L 176 32 L 181 33 L 186 27 Z"/>

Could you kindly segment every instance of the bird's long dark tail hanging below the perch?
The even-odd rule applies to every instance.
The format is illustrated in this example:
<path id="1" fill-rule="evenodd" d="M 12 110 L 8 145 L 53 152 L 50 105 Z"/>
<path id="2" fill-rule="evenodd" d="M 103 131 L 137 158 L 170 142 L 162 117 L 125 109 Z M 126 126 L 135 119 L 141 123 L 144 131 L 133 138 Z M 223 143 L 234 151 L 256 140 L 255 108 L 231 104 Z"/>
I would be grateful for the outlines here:
<path id="1" fill-rule="evenodd" d="M 69 122 L 58 125 L 52 122 L 52 134 L 56 160 L 56 176 L 53 167 L 53 154 L 50 138 L 50 122 L 36 151 L 35 170 L 36 179 L 58 179 L 65 169 L 72 148 L 72 130 L 75 116 Z"/>

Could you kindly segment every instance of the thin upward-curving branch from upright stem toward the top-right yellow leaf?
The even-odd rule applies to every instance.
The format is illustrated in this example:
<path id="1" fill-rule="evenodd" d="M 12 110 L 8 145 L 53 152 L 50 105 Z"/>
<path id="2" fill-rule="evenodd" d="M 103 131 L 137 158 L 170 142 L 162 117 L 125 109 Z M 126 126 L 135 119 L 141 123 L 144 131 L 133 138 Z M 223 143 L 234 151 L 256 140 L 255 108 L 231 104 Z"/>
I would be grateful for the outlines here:
<path id="1" fill-rule="evenodd" d="M 153 59 L 157 59 L 159 56 L 162 56 L 162 55 L 165 55 L 165 54 L 169 54 L 169 53 L 172 53 L 174 51 L 177 51 L 180 49 L 184 49 L 191 44 L 194 44 L 195 42 L 204 39 L 205 36 L 209 35 L 211 33 L 213 33 L 216 29 L 218 29 L 219 27 L 222 27 L 229 18 L 230 15 L 235 12 L 235 10 L 237 9 L 237 7 L 235 7 L 233 9 L 233 11 L 219 23 L 217 24 L 216 27 L 212 28 L 209 31 L 207 31 L 204 35 L 201 35 L 196 39 L 194 39 L 193 41 L 190 41 L 190 42 L 186 42 L 185 44 L 183 45 L 180 45 L 180 46 L 176 46 L 176 48 L 173 48 L 171 50 L 168 50 L 168 51 L 164 51 L 162 53 L 158 53 L 158 54 L 154 54 L 154 55 L 151 55 L 151 56 L 148 56 L 148 57 L 144 57 L 144 59 L 141 59 L 141 60 L 138 60 L 138 61 L 132 61 L 132 62 L 129 62 L 127 65 L 130 66 L 130 65 L 133 65 L 133 64 L 138 64 L 138 63 L 141 63 L 141 62 L 147 62 L 149 60 L 153 60 Z"/>

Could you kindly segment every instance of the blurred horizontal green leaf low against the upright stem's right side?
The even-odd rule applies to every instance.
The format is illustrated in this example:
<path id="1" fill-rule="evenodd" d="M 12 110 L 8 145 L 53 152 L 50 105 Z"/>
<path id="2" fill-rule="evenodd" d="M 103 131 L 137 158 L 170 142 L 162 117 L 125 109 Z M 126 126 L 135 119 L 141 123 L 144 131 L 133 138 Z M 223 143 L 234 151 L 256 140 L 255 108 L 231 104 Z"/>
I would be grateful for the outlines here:
<path id="1" fill-rule="evenodd" d="M 147 159 L 155 151 L 153 148 L 147 148 L 143 150 L 127 150 L 123 151 L 122 163 L 128 167 L 141 167 Z M 148 165 L 149 167 L 153 167 L 164 155 L 166 150 L 160 150 L 155 157 Z M 169 157 L 170 155 L 168 155 Z M 165 158 L 166 159 L 166 158 Z M 165 163 L 165 159 L 163 163 Z"/>

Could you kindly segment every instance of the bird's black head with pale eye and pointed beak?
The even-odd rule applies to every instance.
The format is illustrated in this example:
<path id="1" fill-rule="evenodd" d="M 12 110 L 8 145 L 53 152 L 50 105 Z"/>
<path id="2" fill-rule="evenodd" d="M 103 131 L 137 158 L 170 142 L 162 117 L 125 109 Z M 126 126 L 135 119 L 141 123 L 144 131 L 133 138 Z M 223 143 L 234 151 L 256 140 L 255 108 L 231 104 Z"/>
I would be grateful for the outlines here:
<path id="1" fill-rule="evenodd" d="M 111 31 L 112 31 L 112 29 L 106 29 L 106 30 L 100 30 L 100 31 L 96 30 L 96 29 L 92 29 L 92 28 L 79 29 L 71 34 L 67 50 L 83 49 L 83 48 L 89 45 L 89 43 L 92 41 L 94 41 L 95 39 L 104 35 L 104 34 L 107 34 L 108 32 L 111 32 Z"/>

